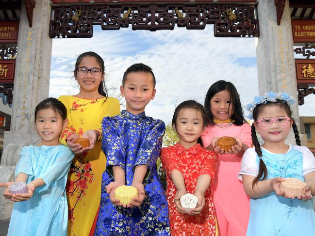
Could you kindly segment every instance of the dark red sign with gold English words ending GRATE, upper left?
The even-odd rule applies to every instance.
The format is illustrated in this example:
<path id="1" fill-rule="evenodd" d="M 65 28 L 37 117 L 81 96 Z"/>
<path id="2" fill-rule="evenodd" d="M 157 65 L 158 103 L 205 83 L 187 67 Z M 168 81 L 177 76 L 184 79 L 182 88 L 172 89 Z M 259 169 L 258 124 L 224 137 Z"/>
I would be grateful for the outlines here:
<path id="1" fill-rule="evenodd" d="M 17 43 L 18 21 L 0 21 L 0 43 Z"/>

